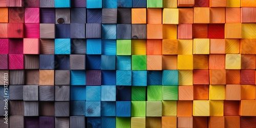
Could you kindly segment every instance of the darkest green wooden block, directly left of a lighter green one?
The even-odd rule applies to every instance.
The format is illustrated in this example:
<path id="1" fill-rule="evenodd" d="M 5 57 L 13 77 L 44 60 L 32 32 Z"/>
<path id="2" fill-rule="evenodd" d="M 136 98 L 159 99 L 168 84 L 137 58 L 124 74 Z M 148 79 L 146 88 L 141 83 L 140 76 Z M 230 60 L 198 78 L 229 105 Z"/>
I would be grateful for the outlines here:
<path id="1" fill-rule="evenodd" d="M 132 100 L 145 101 L 146 100 L 146 87 L 132 86 Z"/>

